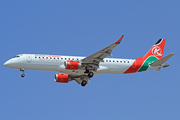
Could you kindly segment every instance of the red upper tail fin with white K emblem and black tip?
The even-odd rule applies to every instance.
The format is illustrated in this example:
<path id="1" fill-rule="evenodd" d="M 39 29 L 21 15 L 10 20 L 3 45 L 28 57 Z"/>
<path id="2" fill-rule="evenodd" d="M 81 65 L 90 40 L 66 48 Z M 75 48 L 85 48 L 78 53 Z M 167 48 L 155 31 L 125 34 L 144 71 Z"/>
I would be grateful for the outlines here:
<path id="1" fill-rule="evenodd" d="M 164 52 L 164 46 L 165 46 L 166 39 L 159 39 L 155 45 L 152 46 L 152 48 L 146 53 L 146 55 L 143 57 L 144 59 L 154 56 L 157 59 L 161 59 Z"/>

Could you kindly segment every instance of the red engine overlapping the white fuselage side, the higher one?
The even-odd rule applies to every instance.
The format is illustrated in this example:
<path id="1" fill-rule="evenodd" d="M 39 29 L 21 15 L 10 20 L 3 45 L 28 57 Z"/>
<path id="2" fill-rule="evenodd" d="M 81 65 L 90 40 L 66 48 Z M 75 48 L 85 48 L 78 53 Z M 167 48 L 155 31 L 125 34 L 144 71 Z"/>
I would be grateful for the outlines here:
<path id="1" fill-rule="evenodd" d="M 77 70 L 81 67 L 79 61 L 72 61 L 72 60 L 67 60 L 64 62 L 65 69 L 69 70 Z"/>

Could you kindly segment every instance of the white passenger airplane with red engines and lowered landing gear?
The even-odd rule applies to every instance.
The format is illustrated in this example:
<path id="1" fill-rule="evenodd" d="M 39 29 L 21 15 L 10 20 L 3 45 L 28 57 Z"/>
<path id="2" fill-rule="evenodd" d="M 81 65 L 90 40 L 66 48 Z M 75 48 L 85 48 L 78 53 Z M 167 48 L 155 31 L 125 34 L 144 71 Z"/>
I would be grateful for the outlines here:
<path id="1" fill-rule="evenodd" d="M 22 71 L 46 70 L 59 72 L 55 74 L 54 80 L 59 83 L 68 83 L 75 80 L 78 84 L 85 86 L 94 75 L 100 74 L 127 74 L 147 70 L 157 70 L 168 67 L 165 62 L 175 53 L 163 56 L 166 39 L 159 39 L 155 45 L 142 57 L 137 59 L 106 58 L 112 56 L 112 50 L 120 44 L 124 35 L 105 47 L 104 49 L 88 56 L 62 56 L 42 54 L 19 54 L 6 61 L 4 66 Z"/>

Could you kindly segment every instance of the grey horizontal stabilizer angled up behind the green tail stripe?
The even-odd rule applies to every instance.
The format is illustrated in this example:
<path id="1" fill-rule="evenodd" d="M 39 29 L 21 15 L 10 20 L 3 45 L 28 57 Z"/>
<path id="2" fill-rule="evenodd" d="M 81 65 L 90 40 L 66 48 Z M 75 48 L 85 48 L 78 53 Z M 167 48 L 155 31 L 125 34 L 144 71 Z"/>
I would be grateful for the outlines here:
<path id="1" fill-rule="evenodd" d="M 150 63 L 151 66 L 158 66 L 158 65 L 162 65 L 163 63 L 165 63 L 169 58 L 171 58 L 175 53 L 171 53 L 153 63 Z"/>

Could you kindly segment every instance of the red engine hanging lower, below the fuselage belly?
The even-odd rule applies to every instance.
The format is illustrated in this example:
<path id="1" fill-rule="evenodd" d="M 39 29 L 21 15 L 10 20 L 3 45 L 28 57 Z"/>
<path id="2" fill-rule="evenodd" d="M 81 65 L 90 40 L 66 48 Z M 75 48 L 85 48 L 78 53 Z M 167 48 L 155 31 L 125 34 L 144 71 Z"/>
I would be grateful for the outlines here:
<path id="1" fill-rule="evenodd" d="M 60 83 L 67 83 L 68 81 L 71 81 L 71 77 L 69 77 L 68 74 L 58 73 L 54 76 L 54 81 Z"/>

